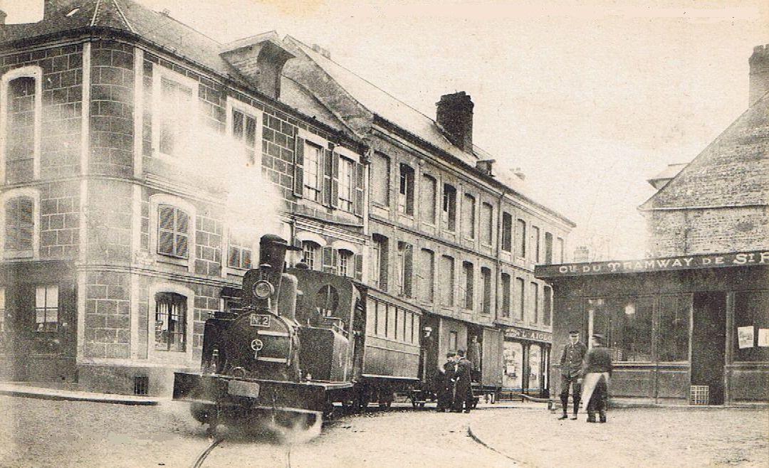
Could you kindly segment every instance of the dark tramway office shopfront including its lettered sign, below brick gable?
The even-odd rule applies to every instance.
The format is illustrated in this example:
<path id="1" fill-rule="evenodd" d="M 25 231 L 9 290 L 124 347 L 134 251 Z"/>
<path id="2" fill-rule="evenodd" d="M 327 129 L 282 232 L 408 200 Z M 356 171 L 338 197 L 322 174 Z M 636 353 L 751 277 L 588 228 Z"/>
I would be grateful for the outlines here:
<path id="1" fill-rule="evenodd" d="M 553 287 L 556 352 L 572 329 L 606 338 L 613 397 L 769 403 L 769 252 L 547 265 L 535 275 Z"/>

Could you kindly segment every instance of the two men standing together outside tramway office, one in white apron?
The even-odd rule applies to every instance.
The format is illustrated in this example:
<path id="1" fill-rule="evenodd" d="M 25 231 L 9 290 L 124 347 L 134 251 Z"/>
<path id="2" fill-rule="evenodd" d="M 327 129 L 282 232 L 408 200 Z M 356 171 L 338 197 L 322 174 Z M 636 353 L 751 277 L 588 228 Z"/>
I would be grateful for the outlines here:
<path id="1" fill-rule="evenodd" d="M 561 407 L 563 414 L 559 420 L 568 418 L 569 386 L 574 402 L 572 420 L 577 419 L 579 403 L 588 401 L 588 423 L 595 423 L 595 413 L 598 412 L 598 422 L 606 422 L 606 407 L 608 403 L 608 383 L 611 377 L 611 353 L 605 347 L 604 337 L 593 335 L 593 346 L 590 350 L 579 340 L 579 332 L 569 332 L 569 343 L 561 353 Z"/>

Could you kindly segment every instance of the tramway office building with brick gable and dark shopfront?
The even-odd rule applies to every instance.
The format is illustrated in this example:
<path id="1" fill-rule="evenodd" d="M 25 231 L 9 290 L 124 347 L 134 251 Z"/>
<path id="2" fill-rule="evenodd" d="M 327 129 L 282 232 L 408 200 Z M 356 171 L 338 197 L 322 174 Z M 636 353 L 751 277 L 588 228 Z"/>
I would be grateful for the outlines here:
<path id="1" fill-rule="evenodd" d="M 651 179 L 640 210 L 653 257 L 538 267 L 555 290 L 555 342 L 571 328 L 606 335 L 615 397 L 769 403 L 769 48 L 750 64 L 747 111 Z"/>

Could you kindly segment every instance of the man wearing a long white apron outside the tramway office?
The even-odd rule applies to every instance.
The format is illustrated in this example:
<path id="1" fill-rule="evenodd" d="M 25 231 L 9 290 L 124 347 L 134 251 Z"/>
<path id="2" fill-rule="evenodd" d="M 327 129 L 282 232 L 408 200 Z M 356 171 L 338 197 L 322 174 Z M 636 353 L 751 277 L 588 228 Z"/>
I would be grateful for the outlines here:
<path id="1" fill-rule="evenodd" d="M 600 422 L 606 422 L 606 407 L 609 397 L 609 377 L 611 377 L 611 352 L 604 347 L 604 337 L 593 335 L 593 347 L 584 357 L 583 400 L 588 400 L 588 423 L 595 422 L 598 411 Z"/>

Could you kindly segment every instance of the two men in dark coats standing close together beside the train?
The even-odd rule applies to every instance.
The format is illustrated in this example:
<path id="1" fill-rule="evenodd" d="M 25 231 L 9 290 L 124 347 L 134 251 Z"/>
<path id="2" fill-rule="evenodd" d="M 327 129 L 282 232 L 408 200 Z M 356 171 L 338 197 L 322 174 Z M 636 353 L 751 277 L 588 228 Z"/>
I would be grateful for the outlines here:
<path id="1" fill-rule="evenodd" d="M 446 363 L 438 375 L 438 411 L 470 413 L 474 405 L 471 387 L 474 364 L 464 356 L 464 350 L 446 353 Z"/>

